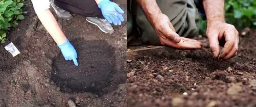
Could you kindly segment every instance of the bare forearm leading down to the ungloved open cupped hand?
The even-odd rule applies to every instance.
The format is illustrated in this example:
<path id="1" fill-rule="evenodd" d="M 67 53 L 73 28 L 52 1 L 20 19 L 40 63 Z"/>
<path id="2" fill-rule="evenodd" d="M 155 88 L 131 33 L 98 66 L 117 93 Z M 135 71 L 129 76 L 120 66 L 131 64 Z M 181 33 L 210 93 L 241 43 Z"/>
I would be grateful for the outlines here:
<path id="1" fill-rule="evenodd" d="M 153 25 L 153 21 L 157 17 L 157 14 L 162 13 L 156 4 L 156 0 L 137 0 L 137 2 L 145 12 L 148 21 L 151 23 L 151 25 Z"/>

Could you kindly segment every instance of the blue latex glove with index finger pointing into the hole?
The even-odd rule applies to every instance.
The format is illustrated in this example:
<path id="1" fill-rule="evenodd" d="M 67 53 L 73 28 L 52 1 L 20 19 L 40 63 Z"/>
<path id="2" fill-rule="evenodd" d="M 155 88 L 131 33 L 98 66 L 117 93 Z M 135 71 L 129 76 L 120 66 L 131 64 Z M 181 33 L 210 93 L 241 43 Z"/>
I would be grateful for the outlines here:
<path id="1" fill-rule="evenodd" d="M 65 43 L 58 46 L 60 47 L 61 53 L 64 56 L 65 60 L 73 60 L 75 65 L 78 66 L 78 63 L 76 60 L 77 58 L 76 50 L 68 41 L 68 39 L 65 41 Z"/>

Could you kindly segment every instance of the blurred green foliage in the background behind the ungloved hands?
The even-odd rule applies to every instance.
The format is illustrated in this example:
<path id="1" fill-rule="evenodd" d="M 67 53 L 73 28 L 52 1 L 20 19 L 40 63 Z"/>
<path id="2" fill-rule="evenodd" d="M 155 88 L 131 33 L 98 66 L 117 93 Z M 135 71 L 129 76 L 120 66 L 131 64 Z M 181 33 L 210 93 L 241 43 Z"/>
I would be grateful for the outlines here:
<path id="1" fill-rule="evenodd" d="M 225 0 L 225 19 L 236 28 L 256 28 L 256 0 Z M 201 26 L 202 25 L 202 26 Z M 200 19 L 200 33 L 205 34 L 206 21 Z"/>

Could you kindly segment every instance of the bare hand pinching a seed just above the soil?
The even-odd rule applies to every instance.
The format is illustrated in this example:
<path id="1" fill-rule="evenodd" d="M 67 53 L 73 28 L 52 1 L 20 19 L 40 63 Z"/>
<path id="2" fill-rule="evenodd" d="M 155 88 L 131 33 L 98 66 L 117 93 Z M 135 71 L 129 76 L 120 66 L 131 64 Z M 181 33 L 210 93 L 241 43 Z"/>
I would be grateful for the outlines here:
<path id="1" fill-rule="evenodd" d="M 207 22 L 206 35 L 214 58 L 218 58 L 220 55 L 220 61 L 224 61 L 236 55 L 239 37 L 234 25 L 218 20 L 209 21 Z M 224 47 L 220 50 L 219 41 L 223 39 L 225 39 Z"/>

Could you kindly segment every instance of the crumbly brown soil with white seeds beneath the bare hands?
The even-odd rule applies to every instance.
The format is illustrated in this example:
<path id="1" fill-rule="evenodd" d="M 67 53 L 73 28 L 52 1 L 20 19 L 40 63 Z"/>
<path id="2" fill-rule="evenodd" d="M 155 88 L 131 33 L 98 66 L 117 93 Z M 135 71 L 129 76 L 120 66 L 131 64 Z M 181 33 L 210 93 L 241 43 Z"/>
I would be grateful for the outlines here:
<path id="1" fill-rule="evenodd" d="M 256 30 L 240 36 L 237 55 L 224 62 L 212 58 L 204 37 L 196 38 L 203 42 L 200 50 L 169 49 L 129 59 L 127 106 L 255 107 L 255 37 Z M 148 47 L 128 47 L 138 48 Z"/>

